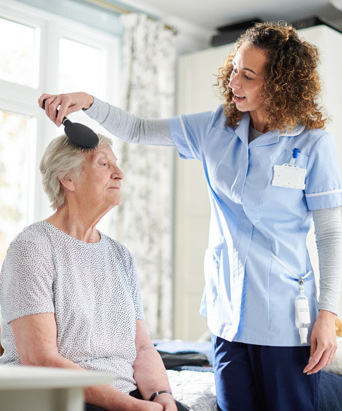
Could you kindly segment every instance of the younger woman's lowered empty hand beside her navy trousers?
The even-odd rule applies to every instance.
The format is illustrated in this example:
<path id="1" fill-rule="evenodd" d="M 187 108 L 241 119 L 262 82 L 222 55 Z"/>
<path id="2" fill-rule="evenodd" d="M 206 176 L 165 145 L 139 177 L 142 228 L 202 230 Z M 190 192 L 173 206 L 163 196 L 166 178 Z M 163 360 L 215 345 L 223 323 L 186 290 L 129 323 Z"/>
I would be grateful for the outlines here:
<path id="1" fill-rule="evenodd" d="M 335 318 L 336 314 L 330 311 L 319 311 L 311 333 L 309 364 L 303 370 L 308 375 L 321 370 L 334 359 L 337 349 Z"/>

